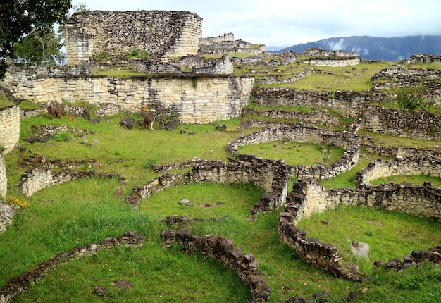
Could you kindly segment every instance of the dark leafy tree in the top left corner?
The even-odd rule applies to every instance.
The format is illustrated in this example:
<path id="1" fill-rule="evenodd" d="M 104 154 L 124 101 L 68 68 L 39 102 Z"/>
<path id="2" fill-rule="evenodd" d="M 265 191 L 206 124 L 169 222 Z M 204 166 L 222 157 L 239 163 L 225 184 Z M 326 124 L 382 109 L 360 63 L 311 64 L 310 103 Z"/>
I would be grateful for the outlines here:
<path id="1" fill-rule="evenodd" d="M 70 7 L 71 0 L 0 0 L 0 80 L 8 68 L 6 58 L 14 58 L 14 44 L 31 33 L 49 35 L 54 23 L 66 21 Z"/>

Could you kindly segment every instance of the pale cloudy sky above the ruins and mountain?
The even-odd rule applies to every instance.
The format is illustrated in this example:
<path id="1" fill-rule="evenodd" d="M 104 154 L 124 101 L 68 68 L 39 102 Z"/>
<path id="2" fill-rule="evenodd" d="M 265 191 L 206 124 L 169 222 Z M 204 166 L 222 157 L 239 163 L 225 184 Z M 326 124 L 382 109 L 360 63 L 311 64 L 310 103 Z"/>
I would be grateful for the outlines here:
<path id="1" fill-rule="evenodd" d="M 90 11 L 191 11 L 203 37 L 282 49 L 330 37 L 441 35 L 440 0 L 73 0 Z"/>

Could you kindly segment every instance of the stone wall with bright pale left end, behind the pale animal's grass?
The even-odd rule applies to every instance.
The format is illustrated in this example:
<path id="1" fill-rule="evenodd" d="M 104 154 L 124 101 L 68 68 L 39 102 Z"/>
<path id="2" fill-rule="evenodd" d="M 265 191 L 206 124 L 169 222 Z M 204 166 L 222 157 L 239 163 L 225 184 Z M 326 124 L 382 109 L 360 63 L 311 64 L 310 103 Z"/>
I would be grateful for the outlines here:
<path id="1" fill-rule="evenodd" d="M 356 189 L 325 190 L 313 179 L 297 180 L 288 193 L 285 211 L 297 223 L 313 212 L 323 212 L 339 206 L 367 206 L 387 211 L 402 211 L 414 216 L 441 219 L 441 190 L 430 182 L 359 185 Z"/>

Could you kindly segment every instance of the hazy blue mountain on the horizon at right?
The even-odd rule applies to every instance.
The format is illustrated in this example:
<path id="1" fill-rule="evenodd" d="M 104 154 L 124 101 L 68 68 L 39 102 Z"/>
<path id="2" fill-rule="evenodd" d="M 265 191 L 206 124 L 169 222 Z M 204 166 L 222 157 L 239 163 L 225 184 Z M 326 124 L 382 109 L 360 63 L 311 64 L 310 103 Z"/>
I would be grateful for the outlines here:
<path id="1" fill-rule="evenodd" d="M 409 58 L 413 54 L 424 53 L 441 55 L 441 36 L 419 35 L 407 37 L 337 37 L 297 44 L 285 47 L 288 51 L 302 52 L 311 47 L 320 47 L 330 51 L 352 51 L 359 53 L 366 60 L 397 61 Z M 275 51 L 283 52 L 284 49 Z"/>

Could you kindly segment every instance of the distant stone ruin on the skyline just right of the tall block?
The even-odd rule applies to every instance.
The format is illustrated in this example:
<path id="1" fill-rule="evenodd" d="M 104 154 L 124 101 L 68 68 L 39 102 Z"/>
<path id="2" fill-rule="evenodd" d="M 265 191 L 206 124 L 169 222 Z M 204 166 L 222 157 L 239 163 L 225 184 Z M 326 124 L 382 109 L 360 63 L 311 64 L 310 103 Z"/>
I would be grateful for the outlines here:
<path id="1" fill-rule="evenodd" d="M 266 51 L 263 44 L 253 44 L 243 41 L 235 40 L 235 35 L 231 32 L 223 34 L 218 37 L 205 37 L 199 39 L 199 55 L 217 55 L 230 53 L 245 53 L 245 54 L 261 54 Z"/>

